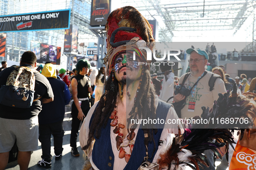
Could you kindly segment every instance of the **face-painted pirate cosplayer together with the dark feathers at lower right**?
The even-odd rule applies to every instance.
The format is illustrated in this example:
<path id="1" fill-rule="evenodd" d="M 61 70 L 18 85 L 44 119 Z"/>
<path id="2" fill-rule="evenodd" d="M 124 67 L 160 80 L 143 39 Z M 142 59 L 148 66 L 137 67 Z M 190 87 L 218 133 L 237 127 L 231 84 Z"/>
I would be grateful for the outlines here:
<path id="1" fill-rule="evenodd" d="M 104 95 L 81 126 L 79 140 L 88 157 L 84 170 L 182 170 L 184 166 L 199 170 L 198 162 L 209 167 L 205 150 L 222 157 L 227 151 L 225 145 L 235 143 L 227 128 L 242 129 L 241 134 L 251 128 L 256 103 L 253 101 L 252 107 L 251 99 L 238 96 L 236 85 L 232 94 L 219 94 L 214 109 L 202 107 L 201 118 L 211 120 L 208 124 L 191 124 L 183 131 L 180 124 L 132 122 L 148 118 L 168 122 L 178 120 L 178 116 L 172 105 L 159 101 L 149 68 L 138 64 L 146 62 L 146 51 L 139 47 L 153 47 L 147 20 L 135 8 L 126 6 L 110 14 L 106 30 L 104 64 L 109 78 Z M 222 116 L 247 119 L 249 123 L 238 128 L 237 124 L 218 124 L 217 118 Z M 214 143 L 209 142 L 213 139 Z"/>

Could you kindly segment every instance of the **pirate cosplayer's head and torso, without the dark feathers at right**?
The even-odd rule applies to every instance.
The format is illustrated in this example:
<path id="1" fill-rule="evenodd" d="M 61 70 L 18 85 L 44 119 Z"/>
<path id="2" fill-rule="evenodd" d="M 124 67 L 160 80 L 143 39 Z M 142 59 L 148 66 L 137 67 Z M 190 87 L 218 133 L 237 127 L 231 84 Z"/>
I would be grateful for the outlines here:
<path id="1" fill-rule="evenodd" d="M 149 22 L 135 8 L 126 6 L 110 14 L 106 30 L 104 64 L 109 78 L 105 93 L 84 120 L 79 140 L 94 170 L 137 170 L 143 161 L 157 161 L 159 141 L 168 133 L 178 134 L 178 125 L 151 127 L 130 120 L 150 117 L 166 121 L 178 116 L 172 105 L 159 101 L 149 68 L 138 64 L 146 63 L 146 51 L 139 47 L 152 49 Z"/>

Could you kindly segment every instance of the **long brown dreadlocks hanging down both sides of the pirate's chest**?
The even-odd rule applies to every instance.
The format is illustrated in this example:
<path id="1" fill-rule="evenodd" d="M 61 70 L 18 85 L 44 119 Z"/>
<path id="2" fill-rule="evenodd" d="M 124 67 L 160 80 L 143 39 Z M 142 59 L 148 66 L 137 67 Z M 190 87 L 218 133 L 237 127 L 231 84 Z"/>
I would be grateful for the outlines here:
<path id="1" fill-rule="evenodd" d="M 114 110 L 114 108 L 116 107 L 115 104 L 117 103 L 118 81 L 114 77 L 114 81 L 113 81 L 115 85 L 114 91 L 112 91 L 110 87 L 111 81 L 112 79 L 109 78 L 106 82 L 105 89 L 107 91 L 107 94 L 106 94 L 107 100 L 106 100 L 105 106 L 104 106 L 104 98 L 103 98 L 104 95 L 102 95 L 98 103 L 98 106 L 95 110 L 94 118 L 91 122 L 87 145 L 85 145 L 82 148 L 83 150 L 86 150 L 89 148 L 94 138 L 94 135 L 97 139 L 100 138 L 101 128 L 102 127 L 105 128 L 107 126 L 107 121 L 109 119 L 109 116 Z M 105 109 L 104 111 L 102 111 L 104 107 Z M 142 76 L 142 83 L 140 85 L 140 89 L 137 94 L 136 103 L 134 104 L 134 107 L 131 113 L 134 113 L 134 110 L 136 107 L 138 108 L 138 112 L 136 113 L 136 115 L 134 115 L 135 117 L 139 116 L 139 117 L 145 118 L 145 117 L 151 116 L 152 118 L 156 118 L 155 90 L 151 84 L 151 77 L 150 77 L 149 70 L 145 70 L 144 75 Z M 142 111 L 142 107 L 143 107 L 143 111 Z M 128 118 L 128 120 L 130 118 Z M 129 125 L 127 125 L 127 127 L 129 127 Z M 132 128 L 136 128 L 136 127 L 133 126 Z M 129 132 L 129 129 L 127 130 Z M 145 145 L 148 145 L 148 143 L 151 141 L 154 143 L 154 150 L 153 150 L 153 153 L 154 153 L 154 151 L 156 150 L 156 142 L 154 141 L 153 133 L 156 134 L 157 129 L 149 129 L 149 126 L 146 125 L 143 127 L 143 132 L 144 134 L 146 133 L 148 134 L 148 137 L 144 139 Z"/>

